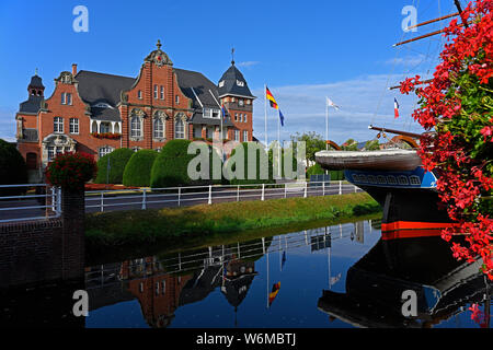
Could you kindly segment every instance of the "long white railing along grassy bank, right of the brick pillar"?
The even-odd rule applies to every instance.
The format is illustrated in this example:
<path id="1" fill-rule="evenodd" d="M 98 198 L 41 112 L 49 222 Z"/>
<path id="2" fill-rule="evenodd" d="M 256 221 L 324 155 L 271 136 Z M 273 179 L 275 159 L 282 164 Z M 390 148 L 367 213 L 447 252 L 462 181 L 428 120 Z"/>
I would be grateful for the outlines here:
<path id="1" fill-rule="evenodd" d="M 342 180 L 102 189 L 85 191 L 85 209 L 103 212 L 105 208 L 123 210 L 134 206 L 144 210 L 148 209 L 149 205 L 153 205 L 154 208 L 159 207 L 157 205 L 181 207 L 200 201 L 211 205 L 218 201 L 330 196 L 357 191 L 362 189 Z"/>

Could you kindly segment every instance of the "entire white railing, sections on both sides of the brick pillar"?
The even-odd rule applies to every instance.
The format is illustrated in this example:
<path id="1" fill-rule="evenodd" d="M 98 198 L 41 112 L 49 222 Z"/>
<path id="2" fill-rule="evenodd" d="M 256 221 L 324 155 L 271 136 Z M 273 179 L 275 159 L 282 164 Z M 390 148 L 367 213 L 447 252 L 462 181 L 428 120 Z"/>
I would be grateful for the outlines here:
<path id="1" fill-rule="evenodd" d="M 59 188 L 49 187 L 46 184 L 0 185 L 1 188 L 23 188 L 26 192 L 22 196 L 0 197 L 0 223 L 58 218 L 61 214 Z M 362 189 L 345 182 L 90 190 L 85 191 L 85 211 L 145 210 L 226 201 L 331 196 L 356 191 Z"/>

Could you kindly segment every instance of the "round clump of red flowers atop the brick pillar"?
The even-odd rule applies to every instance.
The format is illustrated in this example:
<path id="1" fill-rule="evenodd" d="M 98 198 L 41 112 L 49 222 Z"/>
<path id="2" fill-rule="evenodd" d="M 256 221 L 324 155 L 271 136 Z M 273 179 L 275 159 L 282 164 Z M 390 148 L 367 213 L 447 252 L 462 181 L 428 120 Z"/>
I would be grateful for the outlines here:
<path id="1" fill-rule="evenodd" d="M 59 154 L 46 167 L 46 178 L 53 186 L 68 189 L 83 188 L 96 173 L 96 163 L 91 154 L 65 153 Z"/>

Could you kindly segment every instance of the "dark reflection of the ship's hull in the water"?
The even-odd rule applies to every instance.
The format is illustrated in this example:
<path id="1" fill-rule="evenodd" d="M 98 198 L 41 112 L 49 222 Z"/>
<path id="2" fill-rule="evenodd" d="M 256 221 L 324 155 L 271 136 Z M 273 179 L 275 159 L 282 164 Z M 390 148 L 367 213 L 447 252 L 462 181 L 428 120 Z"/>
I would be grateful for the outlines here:
<path id="1" fill-rule="evenodd" d="M 431 327 L 469 303 L 490 307 L 481 264 L 457 261 L 440 237 L 380 240 L 347 271 L 345 293 L 325 290 L 318 306 L 357 327 Z M 403 316 L 406 290 L 416 293 L 416 317 Z"/>

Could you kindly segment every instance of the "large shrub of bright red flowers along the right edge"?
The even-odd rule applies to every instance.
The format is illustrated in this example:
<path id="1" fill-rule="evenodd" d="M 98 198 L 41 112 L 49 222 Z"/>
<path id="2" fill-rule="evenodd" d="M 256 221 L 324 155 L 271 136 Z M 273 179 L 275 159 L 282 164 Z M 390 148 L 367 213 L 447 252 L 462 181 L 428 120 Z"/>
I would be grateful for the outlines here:
<path id="1" fill-rule="evenodd" d="M 482 271 L 493 280 L 493 1 L 477 0 L 446 28 L 447 44 L 428 83 L 420 77 L 401 83 L 414 91 L 420 107 L 413 117 L 426 130 L 419 153 L 423 166 L 439 175 L 437 189 L 448 215 L 458 225 L 444 230 L 447 242 L 466 234 L 466 244 L 451 246 L 457 259 L 483 259 Z M 458 21 L 469 21 L 468 27 Z M 423 85 L 417 88 L 419 85 Z"/>

